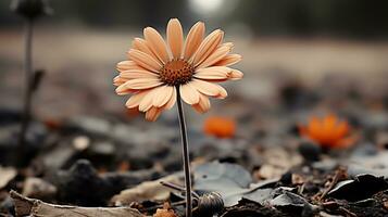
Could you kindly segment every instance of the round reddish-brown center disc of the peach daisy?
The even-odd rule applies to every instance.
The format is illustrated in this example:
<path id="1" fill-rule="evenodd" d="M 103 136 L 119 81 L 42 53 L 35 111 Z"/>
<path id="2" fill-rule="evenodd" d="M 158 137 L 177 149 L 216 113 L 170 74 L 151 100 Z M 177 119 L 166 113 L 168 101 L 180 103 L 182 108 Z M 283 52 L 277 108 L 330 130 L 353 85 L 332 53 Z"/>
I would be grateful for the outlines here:
<path id="1" fill-rule="evenodd" d="M 170 86 L 184 85 L 191 80 L 195 68 L 185 60 L 172 60 L 160 72 L 160 78 Z"/>

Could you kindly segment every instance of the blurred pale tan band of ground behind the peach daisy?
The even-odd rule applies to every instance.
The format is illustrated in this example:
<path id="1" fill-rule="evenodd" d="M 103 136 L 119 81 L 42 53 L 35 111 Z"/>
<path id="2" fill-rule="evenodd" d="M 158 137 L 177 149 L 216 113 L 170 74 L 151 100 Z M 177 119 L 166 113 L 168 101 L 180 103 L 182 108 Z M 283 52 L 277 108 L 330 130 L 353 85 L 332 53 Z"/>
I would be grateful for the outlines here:
<path id="1" fill-rule="evenodd" d="M 24 87 L 22 65 L 23 29 L 0 30 L 0 104 L 21 105 Z M 125 99 L 114 94 L 111 81 L 115 63 L 135 36 L 130 31 L 80 30 L 38 27 L 34 41 L 34 65 L 45 69 L 43 85 L 37 94 L 36 114 L 40 117 L 67 117 L 75 114 L 121 112 Z M 243 82 L 230 86 L 230 93 L 255 101 L 274 100 L 281 80 L 293 79 L 314 87 L 330 75 L 349 77 L 347 82 L 364 82 L 373 94 L 388 76 L 388 42 L 341 39 L 258 38 L 227 35 L 235 50 L 243 55 L 236 67 L 245 73 Z M 343 79 L 343 78 L 342 78 Z M 228 86 L 228 85 L 227 85 Z M 86 106 L 83 102 L 90 104 Z M 216 103 L 215 103 L 216 104 Z"/>

